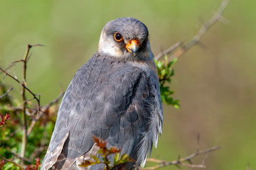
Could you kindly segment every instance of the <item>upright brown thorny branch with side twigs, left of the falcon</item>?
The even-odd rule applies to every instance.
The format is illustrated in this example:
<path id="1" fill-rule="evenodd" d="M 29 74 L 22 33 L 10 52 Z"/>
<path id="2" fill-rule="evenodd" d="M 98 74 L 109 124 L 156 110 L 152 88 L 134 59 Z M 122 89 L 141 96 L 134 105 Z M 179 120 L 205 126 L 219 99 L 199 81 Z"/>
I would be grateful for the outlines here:
<path id="1" fill-rule="evenodd" d="M 30 159 L 27 159 L 25 157 L 25 153 L 26 153 L 26 143 L 27 143 L 27 137 L 28 135 L 31 133 L 31 131 L 33 130 L 34 125 L 36 125 L 36 122 L 39 120 L 39 118 L 41 118 L 41 115 L 43 115 L 43 113 L 46 113 L 46 111 L 50 108 L 50 106 L 53 106 L 55 103 L 58 103 L 58 101 L 60 101 L 60 99 L 63 97 L 64 92 L 62 92 L 60 94 L 60 96 L 58 96 L 58 98 L 55 98 L 53 101 L 51 101 L 50 103 L 48 103 L 46 106 L 43 106 L 41 108 L 40 106 L 40 94 L 34 94 L 30 89 L 28 89 L 28 86 L 26 84 L 26 67 L 27 67 L 27 62 L 29 60 L 29 58 L 31 57 L 31 47 L 35 47 L 35 46 L 42 46 L 42 45 L 28 45 L 25 56 L 23 57 L 22 60 L 17 60 L 16 62 L 12 62 L 11 65 L 9 67 L 7 67 L 7 69 L 9 69 L 11 66 L 14 65 L 14 63 L 17 62 L 22 62 L 23 63 L 23 80 L 22 82 L 19 81 L 14 73 L 14 76 L 12 76 L 11 74 L 9 74 L 6 69 L 2 69 L 0 67 L 0 71 L 4 73 L 4 78 L 10 77 L 11 79 L 14 79 L 18 84 L 21 85 L 22 89 L 21 89 L 21 97 L 22 97 L 22 106 L 18 107 L 18 108 L 9 108 L 9 111 L 21 111 L 22 113 L 22 117 L 23 117 L 23 136 L 22 136 L 22 145 L 21 145 L 21 154 L 18 154 L 16 152 L 13 152 L 11 149 L 8 149 L 10 152 L 12 152 L 16 157 L 18 157 L 19 159 L 21 159 L 21 165 L 16 164 L 15 162 L 11 161 L 11 159 L 6 159 L 4 157 L 2 157 L 4 160 L 6 160 L 7 162 L 11 162 L 13 164 L 15 164 L 16 166 L 19 166 L 22 168 L 22 166 L 24 165 L 23 161 L 29 162 L 31 163 L 32 161 Z M 4 79 L 3 78 L 3 79 Z M 1 98 L 4 98 L 4 96 L 7 96 L 10 91 L 12 90 L 12 87 L 9 88 L 8 91 L 6 91 L 6 93 L 2 96 L 0 96 Z M 33 97 L 27 99 L 26 98 L 26 91 L 28 91 L 29 94 L 31 94 Z M 28 107 L 28 102 L 35 99 L 36 103 L 37 103 L 37 108 L 31 108 Z M 33 114 L 31 114 L 31 111 Z M 35 115 L 36 114 L 36 118 L 33 118 L 31 125 L 28 127 L 28 123 L 26 120 L 26 115 Z M 21 129 L 19 129 L 21 130 Z M 15 132 L 14 132 L 15 133 Z M 41 146 L 41 149 L 39 149 L 41 152 L 43 151 L 43 149 L 46 149 L 45 146 Z"/>

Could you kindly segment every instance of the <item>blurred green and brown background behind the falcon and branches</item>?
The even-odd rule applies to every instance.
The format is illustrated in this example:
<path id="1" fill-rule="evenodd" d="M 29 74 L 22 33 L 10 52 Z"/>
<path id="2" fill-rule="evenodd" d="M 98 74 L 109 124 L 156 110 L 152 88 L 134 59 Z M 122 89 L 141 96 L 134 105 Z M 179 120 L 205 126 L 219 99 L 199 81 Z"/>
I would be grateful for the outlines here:
<path id="1" fill-rule="evenodd" d="M 132 16 L 145 23 L 157 55 L 178 41 L 191 40 L 220 4 L 221 0 L 1 0 L 0 64 L 7 67 L 21 59 L 28 43 L 46 45 L 32 49 L 28 86 L 48 103 L 97 50 L 108 21 Z M 210 154 L 207 169 L 246 169 L 247 164 L 256 168 L 255 9 L 254 0 L 231 0 L 224 13 L 230 23 L 216 23 L 201 40 L 205 47 L 193 47 L 176 62 L 171 89 L 181 110 L 164 106 L 164 132 L 152 157 L 187 156 L 195 152 L 200 134 L 201 149 L 221 147 Z M 21 64 L 9 72 L 21 79 Z M 14 84 L 8 77 L 4 81 Z M 15 88 L 12 93 L 19 93 L 19 86 Z"/>

